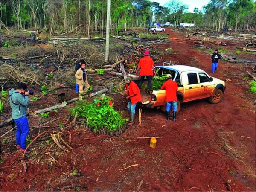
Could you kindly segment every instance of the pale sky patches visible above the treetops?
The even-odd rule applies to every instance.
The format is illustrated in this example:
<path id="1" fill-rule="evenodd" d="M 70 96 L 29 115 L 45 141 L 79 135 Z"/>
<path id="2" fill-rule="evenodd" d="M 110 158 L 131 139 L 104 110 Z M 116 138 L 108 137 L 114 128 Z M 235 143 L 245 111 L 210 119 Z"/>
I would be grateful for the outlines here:
<path id="1" fill-rule="evenodd" d="M 161 6 L 164 5 L 164 3 L 169 2 L 170 0 L 150 0 L 159 3 Z M 180 0 L 183 4 L 188 5 L 189 9 L 188 12 L 193 12 L 193 9 L 197 7 L 199 10 L 203 8 L 203 6 L 207 5 L 210 0 Z"/>

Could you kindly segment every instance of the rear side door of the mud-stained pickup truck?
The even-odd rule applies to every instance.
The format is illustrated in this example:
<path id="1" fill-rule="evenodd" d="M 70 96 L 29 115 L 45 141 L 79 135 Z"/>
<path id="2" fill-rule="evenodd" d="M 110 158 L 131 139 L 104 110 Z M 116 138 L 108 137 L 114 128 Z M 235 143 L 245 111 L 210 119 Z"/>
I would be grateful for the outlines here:
<path id="1" fill-rule="evenodd" d="M 184 74 L 187 81 L 184 82 L 184 102 L 195 100 L 198 98 L 198 93 L 200 90 L 200 86 L 198 84 L 198 75 L 197 73 L 187 73 Z"/>

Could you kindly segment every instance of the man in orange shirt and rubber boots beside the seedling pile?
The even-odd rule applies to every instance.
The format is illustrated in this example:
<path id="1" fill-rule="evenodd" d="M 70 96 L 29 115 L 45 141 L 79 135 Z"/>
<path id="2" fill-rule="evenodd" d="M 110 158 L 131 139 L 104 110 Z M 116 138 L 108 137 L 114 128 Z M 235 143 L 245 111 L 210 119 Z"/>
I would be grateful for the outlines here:
<path id="1" fill-rule="evenodd" d="M 127 108 L 130 112 L 130 121 L 128 125 L 134 124 L 134 115 L 137 102 L 141 101 L 140 89 L 134 81 L 131 81 L 130 77 L 125 79 L 125 90 L 126 90 L 126 99 L 128 100 Z"/>

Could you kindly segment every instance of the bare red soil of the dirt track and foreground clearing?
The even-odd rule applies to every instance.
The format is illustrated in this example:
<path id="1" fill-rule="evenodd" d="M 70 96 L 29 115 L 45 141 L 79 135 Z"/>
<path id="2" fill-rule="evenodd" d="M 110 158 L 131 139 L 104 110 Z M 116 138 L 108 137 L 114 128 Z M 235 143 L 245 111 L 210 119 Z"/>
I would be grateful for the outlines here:
<path id="1" fill-rule="evenodd" d="M 172 54 L 162 60 L 211 73 L 209 54 L 194 49 L 183 35 L 166 32 L 171 44 L 158 44 L 157 49 L 172 47 Z M 160 110 L 143 109 L 143 126 L 133 125 L 119 137 L 84 140 L 94 135 L 85 129 L 65 130 L 64 139 L 73 150 L 52 152 L 58 163 L 28 163 L 26 174 L 21 154 L 14 147 L 4 149 L 1 191 L 227 191 L 227 180 L 232 191 L 255 191 L 255 98 L 247 98 L 240 83 L 243 77 L 236 75 L 245 75 L 250 67 L 220 61 L 214 77 L 231 80 L 223 100 L 216 105 L 205 99 L 184 103 L 177 122 L 167 121 Z M 113 98 L 114 107 L 128 117 L 124 97 Z M 67 122 L 69 112 L 62 109 L 52 116 L 61 117 L 58 125 Z M 149 147 L 148 139 L 136 139 L 153 135 L 163 136 L 156 148 Z M 120 170 L 134 164 L 139 165 Z M 72 175 L 75 169 L 81 176 Z"/>

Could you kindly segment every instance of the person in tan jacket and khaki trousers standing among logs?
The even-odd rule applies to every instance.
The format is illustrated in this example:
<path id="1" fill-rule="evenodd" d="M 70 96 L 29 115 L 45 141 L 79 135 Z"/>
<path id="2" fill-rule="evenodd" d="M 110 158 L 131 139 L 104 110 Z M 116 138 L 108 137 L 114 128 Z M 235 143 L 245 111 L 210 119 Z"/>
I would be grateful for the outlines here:
<path id="1" fill-rule="evenodd" d="M 81 101 L 83 99 L 83 95 L 87 92 L 90 85 L 87 80 L 87 74 L 85 72 L 85 61 L 81 62 L 81 68 L 76 71 L 75 74 L 76 77 L 76 83 L 79 86 L 79 100 Z"/>

